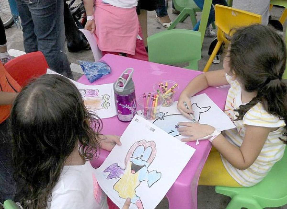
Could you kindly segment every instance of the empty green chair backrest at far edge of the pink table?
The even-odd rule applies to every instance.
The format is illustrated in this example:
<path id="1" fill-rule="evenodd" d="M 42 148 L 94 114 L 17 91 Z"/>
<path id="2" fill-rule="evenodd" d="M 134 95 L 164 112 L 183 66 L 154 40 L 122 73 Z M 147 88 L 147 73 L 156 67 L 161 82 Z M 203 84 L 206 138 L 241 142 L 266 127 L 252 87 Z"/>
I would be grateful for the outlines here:
<path id="1" fill-rule="evenodd" d="M 174 29 L 149 36 L 148 58 L 166 65 L 189 62 L 185 68 L 197 70 L 201 59 L 200 32 Z"/>

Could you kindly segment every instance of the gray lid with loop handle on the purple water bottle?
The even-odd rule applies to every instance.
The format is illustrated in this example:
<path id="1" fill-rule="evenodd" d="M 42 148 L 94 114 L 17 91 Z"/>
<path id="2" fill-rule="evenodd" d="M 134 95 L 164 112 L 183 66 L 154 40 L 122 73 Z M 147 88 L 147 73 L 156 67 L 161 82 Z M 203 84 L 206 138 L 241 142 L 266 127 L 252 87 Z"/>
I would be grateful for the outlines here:
<path id="1" fill-rule="evenodd" d="M 128 71 L 130 71 L 128 73 Z M 131 94 L 135 91 L 135 84 L 132 79 L 133 68 L 127 68 L 114 83 L 114 92 L 120 95 Z"/>

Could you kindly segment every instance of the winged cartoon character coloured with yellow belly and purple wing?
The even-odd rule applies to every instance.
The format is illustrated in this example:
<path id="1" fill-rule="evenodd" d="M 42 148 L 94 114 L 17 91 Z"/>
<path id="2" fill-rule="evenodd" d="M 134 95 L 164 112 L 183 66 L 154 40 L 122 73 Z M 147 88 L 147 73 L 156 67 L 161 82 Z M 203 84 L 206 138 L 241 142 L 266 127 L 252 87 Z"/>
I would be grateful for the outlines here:
<path id="1" fill-rule="evenodd" d="M 156 143 L 141 140 L 133 144 L 127 152 L 124 169 L 119 167 L 118 163 L 114 163 L 104 170 L 104 173 L 110 172 L 107 179 L 119 178 L 113 187 L 119 193 L 119 197 L 131 198 L 131 202 L 139 209 L 143 209 L 144 206 L 136 194 L 136 188 L 142 181 L 147 181 L 151 187 L 161 177 L 161 173 L 156 170 L 148 171 L 155 157 Z"/>

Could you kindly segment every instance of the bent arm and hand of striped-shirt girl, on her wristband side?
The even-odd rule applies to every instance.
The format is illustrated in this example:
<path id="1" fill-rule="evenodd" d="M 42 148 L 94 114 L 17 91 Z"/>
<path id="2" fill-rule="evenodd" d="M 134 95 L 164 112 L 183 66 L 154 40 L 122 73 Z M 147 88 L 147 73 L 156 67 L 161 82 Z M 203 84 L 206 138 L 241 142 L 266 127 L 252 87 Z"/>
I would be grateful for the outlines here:
<path id="1" fill-rule="evenodd" d="M 187 125 L 179 128 L 179 133 L 184 136 L 191 136 L 182 141 L 195 141 L 204 136 L 210 135 L 214 131 L 214 127 L 203 125 L 200 123 L 179 123 L 179 125 Z M 213 141 L 212 145 L 231 163 L 232 166 L 239 170 L 249 168 L 260 154 L 263 145 L 270 131 L 276 128 L 258 127 L 245 125 L 245 137 L 240 148 L 231 144 L 222 134 L 219 134 Z"/>

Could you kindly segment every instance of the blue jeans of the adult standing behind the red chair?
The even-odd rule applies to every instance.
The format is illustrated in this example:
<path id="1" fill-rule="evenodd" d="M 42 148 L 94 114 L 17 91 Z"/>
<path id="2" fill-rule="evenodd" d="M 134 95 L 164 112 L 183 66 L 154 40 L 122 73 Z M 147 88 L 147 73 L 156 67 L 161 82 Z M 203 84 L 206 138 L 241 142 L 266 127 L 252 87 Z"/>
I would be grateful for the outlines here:
<path id="1" fill-rule="evenodd" d="M 65 54 L 63 0 L 16 0 L 26 53 L 41 51 L 51 69 L 73 78 Z"/>

